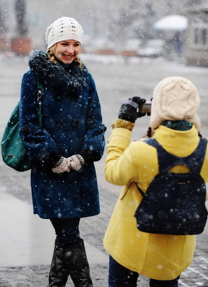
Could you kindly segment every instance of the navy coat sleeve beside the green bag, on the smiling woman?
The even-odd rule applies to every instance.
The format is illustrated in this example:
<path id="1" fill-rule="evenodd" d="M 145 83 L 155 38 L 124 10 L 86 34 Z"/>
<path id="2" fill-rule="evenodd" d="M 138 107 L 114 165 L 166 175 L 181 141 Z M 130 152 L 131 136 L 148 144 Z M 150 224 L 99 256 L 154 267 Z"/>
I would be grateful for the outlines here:
<path id="1" fill-rule="evenodd" d="M 54 140 L 38 123 L 37 78 L 31 70 L 23 75 L 20 100 L 20 137 L 32 164 L 48 161 L 54 165 L 58 149 Z"/>

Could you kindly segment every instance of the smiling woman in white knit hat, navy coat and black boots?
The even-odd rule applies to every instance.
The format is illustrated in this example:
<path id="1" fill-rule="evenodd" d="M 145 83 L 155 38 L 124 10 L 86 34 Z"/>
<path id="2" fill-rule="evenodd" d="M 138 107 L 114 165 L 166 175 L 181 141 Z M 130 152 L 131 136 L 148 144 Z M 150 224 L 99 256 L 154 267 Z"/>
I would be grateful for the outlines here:
<path id="1" fill-rule="evenodd" d="M 32 162 L 33 211 L 56 232 L 48 285 L 54 287 L 64 287 L 68 276 L 76 287 L 92 286 L 79 221 L 100 212 L 93 162 L 102 157 L 106 128 L 92 75 L 78 59 L 82 34 L 70 17 L 51 24 L 47 51 L 32 54 L 21 87 L 20 135 Z"/>

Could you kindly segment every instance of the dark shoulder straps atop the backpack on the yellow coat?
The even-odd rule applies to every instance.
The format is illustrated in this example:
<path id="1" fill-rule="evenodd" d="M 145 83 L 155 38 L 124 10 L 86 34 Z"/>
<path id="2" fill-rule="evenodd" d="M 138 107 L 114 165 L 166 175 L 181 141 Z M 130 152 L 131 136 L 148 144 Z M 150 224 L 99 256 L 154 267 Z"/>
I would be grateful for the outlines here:
<path id="1" fill-rule="evenodd" d="M 145 140 L 145 142 L 157 148 L 160 174 L 167 172 L 170 168 L 176 165 L 186 165 L 194 171 L 194 173 L 200 174 L 205 158 L 207 139 L 200 138 L 199 144 L 192 154 L 182 158 L 170 154 L 162 147 L 161 144 L 159 144 L 159 142 L 157 142 L 157 140 L 153 138 Z"/>

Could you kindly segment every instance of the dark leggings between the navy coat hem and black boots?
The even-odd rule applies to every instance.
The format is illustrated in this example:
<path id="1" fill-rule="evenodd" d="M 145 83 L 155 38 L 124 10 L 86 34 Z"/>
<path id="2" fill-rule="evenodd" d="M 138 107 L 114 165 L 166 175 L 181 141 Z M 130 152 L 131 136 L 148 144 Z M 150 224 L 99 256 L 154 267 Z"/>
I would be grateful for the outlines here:
<path id="1" fill-rule="evenodd" d="M 80 218 L 50 219 L 56 232 L 58 246 L 70 248 L 81 242 L 79 235 Z"/>

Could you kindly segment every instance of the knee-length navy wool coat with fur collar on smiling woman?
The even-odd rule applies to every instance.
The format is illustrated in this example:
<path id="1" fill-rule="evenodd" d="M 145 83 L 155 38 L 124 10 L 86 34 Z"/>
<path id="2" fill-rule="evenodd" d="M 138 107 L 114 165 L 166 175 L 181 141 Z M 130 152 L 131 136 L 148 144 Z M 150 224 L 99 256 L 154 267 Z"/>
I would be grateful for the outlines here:
<path id="1" fill-rule="evenodd" d="M 21 87 L 20 136 L 33 164 L 31 190 L 34 214 L 41 218 L 88 217 L 100 212 L 93 161 L 79 171 L 55 174 L 47 160 L 81 151 L 103 155 L 105 125 L 92 75 L 76 62 L 70 69 L 35 52 Z M 42 129 L 38 124 L 37 74 L 43 83 Z M 47 163 L 47 164 L 46 164 Z"/>

